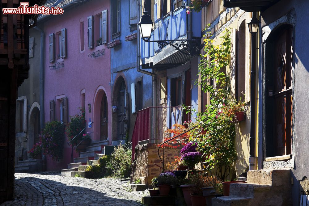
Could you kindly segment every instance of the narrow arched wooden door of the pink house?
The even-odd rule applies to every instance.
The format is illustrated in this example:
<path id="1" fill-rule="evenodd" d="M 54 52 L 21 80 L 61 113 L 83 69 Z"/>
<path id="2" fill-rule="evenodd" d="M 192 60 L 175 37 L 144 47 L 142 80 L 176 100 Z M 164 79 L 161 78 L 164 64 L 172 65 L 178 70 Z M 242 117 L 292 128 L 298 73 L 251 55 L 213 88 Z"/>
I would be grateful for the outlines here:
<path id="1" fill-rule="evenodd" d="M 100 141 L 107 140 L 108 137 L 108 109 L 107 109 L 106 94 L 103 95 L 101 100 L 100 110 Z"/>

